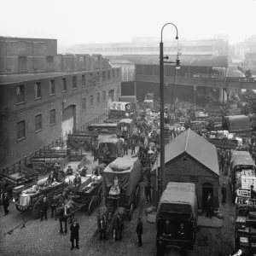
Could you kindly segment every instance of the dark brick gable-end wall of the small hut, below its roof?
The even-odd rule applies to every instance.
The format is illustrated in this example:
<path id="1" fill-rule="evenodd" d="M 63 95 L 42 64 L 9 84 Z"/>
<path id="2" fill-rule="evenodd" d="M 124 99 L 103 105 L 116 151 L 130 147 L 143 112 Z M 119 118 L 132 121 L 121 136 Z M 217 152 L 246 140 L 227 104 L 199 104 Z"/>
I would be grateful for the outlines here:
<path id="1" fill-rule="evenodd" d="M 186 155 L 186 160 L 183 160 L 183 156 Z M 191 177 L 198 177 L 198 181 L 195 182 Z M 169 182 L 184 182 L 195 183 L 198 193 L 199 207 L 202 208 L 202 186 L 205 183 L 211 183 L 213 185 L 213 202 L 214 210 L 218 211 L 218 175 L 207 170 L 204 166 L 198 163 L 196 160 L 189 157 L 188 154 L 182 154 L 173 160 L 170 164 L 166 164 L 165 168 L 165 180 L 164 189 Z M 154 205 L 158 204 L 158 195 L 156 188 L 156 178 L 153 178 L 153 201 Z"/>

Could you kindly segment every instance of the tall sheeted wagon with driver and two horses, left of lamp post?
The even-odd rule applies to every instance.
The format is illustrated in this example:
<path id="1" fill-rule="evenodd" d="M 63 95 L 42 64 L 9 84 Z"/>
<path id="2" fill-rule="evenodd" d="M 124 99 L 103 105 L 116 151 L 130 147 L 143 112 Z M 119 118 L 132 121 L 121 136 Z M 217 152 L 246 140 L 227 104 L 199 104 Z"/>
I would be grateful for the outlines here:
<path id="1" fill-rule="evenodd" d="M 138 158 L 119 157 L 105 168 L 102 189 L 106 210 L 98 212 L 101 236 L 105 234 L 107 237 L 112 233 L 114 240 L 121 238 L 125 220 L 131 220 L 138 205 L 142 174 Z"/>

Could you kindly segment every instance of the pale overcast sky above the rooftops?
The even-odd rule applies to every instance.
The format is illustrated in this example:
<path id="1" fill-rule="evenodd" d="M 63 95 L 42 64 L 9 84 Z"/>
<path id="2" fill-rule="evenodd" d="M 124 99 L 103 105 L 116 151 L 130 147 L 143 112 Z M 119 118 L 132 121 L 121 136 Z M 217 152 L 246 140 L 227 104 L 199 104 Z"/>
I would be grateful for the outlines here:
<path id="1" fill-rule="evenodd" d="M 227 33 L 235 44 L 256 33 L 256 0 L 0 0 L 0 7 L 0 36 L 62 45 L 160 38 L 166 22 L 176 24 L 179 38 Z M 174 28 L 164 36 L 174 40 Z"/>

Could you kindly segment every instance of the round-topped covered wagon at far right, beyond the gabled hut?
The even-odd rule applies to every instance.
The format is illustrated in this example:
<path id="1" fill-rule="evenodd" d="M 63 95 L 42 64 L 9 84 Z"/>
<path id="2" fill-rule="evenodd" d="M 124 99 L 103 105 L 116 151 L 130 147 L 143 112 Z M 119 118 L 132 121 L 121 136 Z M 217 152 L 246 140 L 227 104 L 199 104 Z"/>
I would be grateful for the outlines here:
<path id="1" fill-rule="evenodd" d="M 252 130 L 250 118 L 246 115 L 230 115 L 223 119 L 223 129 L 229 132 L 248 132 Z"/>

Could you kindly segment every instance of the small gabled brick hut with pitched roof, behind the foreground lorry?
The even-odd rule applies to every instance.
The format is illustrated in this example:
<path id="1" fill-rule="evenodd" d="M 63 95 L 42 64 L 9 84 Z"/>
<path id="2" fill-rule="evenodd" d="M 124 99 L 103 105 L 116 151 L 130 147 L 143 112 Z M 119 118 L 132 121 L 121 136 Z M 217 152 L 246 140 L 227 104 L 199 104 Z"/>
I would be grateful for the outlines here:
<path id="1" fill-rule="evenodd" d="M 209 192 L 213 195 L 214 211 L 218 211 L 217 149 L 195 131 L 183 131 L 166 145 L 164 189 L 169 182 L 195 183 L 199 208 L 203 210 Z M 156 170 L 160 172 L 160 157 L 152 169 L 153 203 L 158 204 Z"/>

